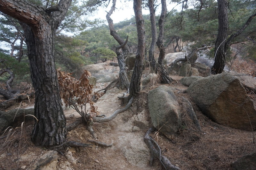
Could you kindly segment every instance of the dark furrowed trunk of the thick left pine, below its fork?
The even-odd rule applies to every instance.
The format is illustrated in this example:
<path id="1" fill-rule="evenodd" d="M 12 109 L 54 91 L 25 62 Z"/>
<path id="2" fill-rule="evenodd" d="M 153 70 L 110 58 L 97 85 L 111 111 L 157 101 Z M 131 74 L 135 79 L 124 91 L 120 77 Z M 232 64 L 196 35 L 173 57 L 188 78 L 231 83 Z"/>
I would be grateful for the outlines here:
<path id="1" fill-rule="evenodd" d="M 66 137 L 66 119 L 53 58 L 54 30 L 49 23 L 45 23 L 35 36 L 28 25 L 22 26 L 36 93 L 35 116 L 39 120 L 33 129 L 32 141 L 36 145 L 61 144 Z"/>

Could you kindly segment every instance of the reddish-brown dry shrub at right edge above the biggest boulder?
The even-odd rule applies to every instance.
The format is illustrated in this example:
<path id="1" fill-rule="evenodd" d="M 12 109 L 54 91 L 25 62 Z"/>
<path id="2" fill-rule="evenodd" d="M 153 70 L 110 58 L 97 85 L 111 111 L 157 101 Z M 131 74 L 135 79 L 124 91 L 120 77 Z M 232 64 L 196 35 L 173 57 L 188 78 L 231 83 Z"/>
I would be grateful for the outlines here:
<path id="1" fill-rule="evenodd" d="M 236 58 L 232 63 L 232 66 L 230 67 L 230 69 L 238 73 L 246 73 L 255 77 L 256 76 L 255 66 L 256 66 L 256 63 L 252 59 Z"/>

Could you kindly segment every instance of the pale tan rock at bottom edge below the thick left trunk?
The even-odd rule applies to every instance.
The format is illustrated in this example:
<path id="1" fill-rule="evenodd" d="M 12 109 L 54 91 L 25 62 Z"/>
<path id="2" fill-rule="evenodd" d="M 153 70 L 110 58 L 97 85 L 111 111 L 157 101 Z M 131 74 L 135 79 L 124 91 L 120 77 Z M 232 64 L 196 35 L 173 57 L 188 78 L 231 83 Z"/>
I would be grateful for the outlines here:
<path id="1" fill-rule="evenodd" d="M 57 151 L 46 151 L 34 165 L 34 169 L 54 170 L 58 163 Z"/>

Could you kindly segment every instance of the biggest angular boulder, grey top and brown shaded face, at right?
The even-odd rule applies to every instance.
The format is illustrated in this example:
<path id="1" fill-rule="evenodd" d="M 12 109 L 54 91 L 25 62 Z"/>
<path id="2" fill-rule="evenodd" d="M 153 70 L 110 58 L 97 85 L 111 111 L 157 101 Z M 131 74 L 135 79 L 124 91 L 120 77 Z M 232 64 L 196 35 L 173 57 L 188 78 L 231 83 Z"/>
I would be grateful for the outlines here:
<path id="1" fill-rule="evenodd" d="M 187 89 L 202 112 L 215 122 L 243 130 L 256 129 L 256 110 L 240 81 L 223 72 L 194 81 Z"/>

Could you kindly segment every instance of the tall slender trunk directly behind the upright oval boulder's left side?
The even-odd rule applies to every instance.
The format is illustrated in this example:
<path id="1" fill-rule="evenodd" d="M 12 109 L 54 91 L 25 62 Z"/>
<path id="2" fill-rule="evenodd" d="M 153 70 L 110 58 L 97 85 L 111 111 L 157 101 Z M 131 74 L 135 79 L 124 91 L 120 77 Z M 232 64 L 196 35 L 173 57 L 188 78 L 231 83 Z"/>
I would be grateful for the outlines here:
<path id="1" fill-rule="evenodd" d="M 138 49 L 136 53 L 135 65 L 132 73 L 132 80 L 130 84 L 130 96 L 135 97 L 140 91 L 140 79 L 142 75 L 143 60 L 145 55 L 145 26 L 142 15 L 142 0 L 133 1 L 133 9 L 136 19 L 137 34 L 138 34 Z"/>

